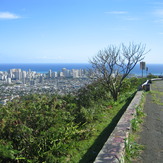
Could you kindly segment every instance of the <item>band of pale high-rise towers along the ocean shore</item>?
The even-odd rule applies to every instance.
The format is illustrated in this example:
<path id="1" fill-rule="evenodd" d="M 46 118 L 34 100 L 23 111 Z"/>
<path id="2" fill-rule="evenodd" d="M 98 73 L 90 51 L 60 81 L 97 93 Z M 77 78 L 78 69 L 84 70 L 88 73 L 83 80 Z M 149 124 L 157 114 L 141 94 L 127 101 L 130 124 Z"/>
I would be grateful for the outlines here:
<path id="1" fill-rule="evenodd" d="M 10 69 L 8 72 L 0 72 L 0 80 L 6 84 L 15 83 L 15 81 L 22 82 L 23 84 L 30 83 L 34 85 L 38 80 L 39 83 L 43 83 L 44 79 L 54 78 L 87 78 L 87 71 L 83 69 L 68 70 L 62 68 L 62 71 L 53 72 L 49 70 L 47 74 L 36 73 L 35 71 L 23 71 L 21 69 Z"/>

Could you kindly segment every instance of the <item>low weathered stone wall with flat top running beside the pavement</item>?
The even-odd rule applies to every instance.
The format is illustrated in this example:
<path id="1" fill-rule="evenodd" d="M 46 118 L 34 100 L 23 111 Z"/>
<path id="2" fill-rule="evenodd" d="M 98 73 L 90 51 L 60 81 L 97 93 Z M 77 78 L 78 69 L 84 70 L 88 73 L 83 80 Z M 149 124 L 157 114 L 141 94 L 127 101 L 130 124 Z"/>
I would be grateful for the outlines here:
<path id="1" fill-rule="evenodd" d="M 134 118 L 136 107 L 140 104 L 141 97 L 142 91 L 138 91 L 99 152 L 94 163 L 124 162 L 125 139 L 128 138 L 129 130 L 131 129 L 131 120 Z"/>

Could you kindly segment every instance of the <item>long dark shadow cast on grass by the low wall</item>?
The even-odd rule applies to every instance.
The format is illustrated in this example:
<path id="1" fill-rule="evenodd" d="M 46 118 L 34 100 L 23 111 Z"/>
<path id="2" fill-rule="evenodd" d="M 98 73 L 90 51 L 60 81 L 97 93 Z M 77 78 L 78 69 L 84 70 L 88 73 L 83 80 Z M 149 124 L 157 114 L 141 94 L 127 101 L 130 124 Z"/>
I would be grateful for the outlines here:
<path id="1" fill-rule="evenodd" d="M 122 107 L 122 109 L 118 112 L 118 114 L 113 118 L 111 123 L 101 132 L 98 138 L 95 140 L 94 144 L 89 148 L 89 150 L 85 153 L 83 158 L 79 161 L 79 163 L 93 163 L 98 153 L 104 146 L 105 142 L 109 138 L 110 134 L 113 132 L 116 127 L 118 121 L 126 111 L 129 106 L 131 100 L 135 96 L 136 92 L 126 100 L 126 104 Z"/>

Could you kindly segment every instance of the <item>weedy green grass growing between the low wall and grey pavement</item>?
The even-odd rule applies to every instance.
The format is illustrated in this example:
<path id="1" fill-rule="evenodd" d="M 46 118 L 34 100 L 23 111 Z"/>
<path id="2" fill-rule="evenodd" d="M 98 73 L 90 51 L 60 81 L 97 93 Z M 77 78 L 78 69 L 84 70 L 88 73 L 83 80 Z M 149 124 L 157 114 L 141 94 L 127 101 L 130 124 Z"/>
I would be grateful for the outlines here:
<path id="1" fill-rule="evenodd" d="M 153 84 L 153 88 L 157 88 Z M 145 113 L 143 112 L 144 103 L 145 103 L 145 96 L 146 94 L 152 95 L 152 101 L 155 104 L 163 105 L 163 92 L 160 91 L 153 91 L 144 93 L 142 97 L 142 101 L 140 106 L 137 108 L 136 113 L 137 115 L 132 120 L 132 133 L 129 134 L 128 139 L 125 141 L 125 163 L 131 163 L 132 161 L 138 162 L 137 159 L 139 158 L 141 152 L 145 149 L 145 147 L 141 144 L 138 144 L 139 139 L 139 132 L 141 131 L 141 124 L 143 123 L 143 118 Z M 157 120 L 160 120 L 159 118 Z"/>

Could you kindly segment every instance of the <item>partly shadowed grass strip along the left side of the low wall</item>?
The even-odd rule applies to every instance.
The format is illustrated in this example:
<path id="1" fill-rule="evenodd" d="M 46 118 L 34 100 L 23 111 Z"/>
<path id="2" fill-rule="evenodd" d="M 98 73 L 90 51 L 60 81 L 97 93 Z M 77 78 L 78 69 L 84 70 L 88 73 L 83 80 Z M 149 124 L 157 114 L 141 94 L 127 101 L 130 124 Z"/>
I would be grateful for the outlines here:
<path id="1" fill-rule="evenodd" d="M 99 151 L 131 102 L 133 96 L 134 94 L 127 100 L 125 97 L 124 100 L 117 103 L 112 108 L 107 108 L 107 110 L 101 114 L 102 117 L 100 122 L 97 121 L 94 123 L 94 135 L 89 138 L 89 140 L 84 140 L 81 143 L 79 142 L 79 149 L 73 153 L 74 156 L 71 158 L 70 162 L 91 163 L 95 160 Z"/>

